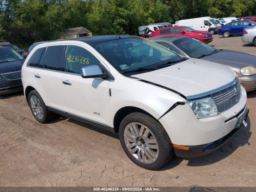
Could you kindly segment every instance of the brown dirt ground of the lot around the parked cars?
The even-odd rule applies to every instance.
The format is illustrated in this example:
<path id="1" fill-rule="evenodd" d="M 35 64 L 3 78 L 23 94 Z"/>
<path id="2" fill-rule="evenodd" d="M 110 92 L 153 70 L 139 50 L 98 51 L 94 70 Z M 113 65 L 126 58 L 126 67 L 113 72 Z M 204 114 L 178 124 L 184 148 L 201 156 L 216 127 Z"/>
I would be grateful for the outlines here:
<path id="1" fill-rule="evenodd" d="M 210 44 L 256 54 L 241 37 L 214 35 Z M 174 157 L 150 171 L 128 159 L 115 134 L 61 116 L 40 124 L 22 92 L 3 96 L 0 186 L 256 186 L 256 91 L 248 93 L 248 108 L 248 127 L 220 150 L 194 160 Z"/>

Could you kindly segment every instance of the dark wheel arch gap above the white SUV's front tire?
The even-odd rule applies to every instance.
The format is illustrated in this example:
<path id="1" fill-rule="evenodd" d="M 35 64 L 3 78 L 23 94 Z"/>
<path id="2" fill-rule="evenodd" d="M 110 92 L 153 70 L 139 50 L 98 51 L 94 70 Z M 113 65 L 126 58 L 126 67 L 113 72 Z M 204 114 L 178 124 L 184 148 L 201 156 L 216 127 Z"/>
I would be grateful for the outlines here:
<path id="1" fill-rule="evenodd" d="M 134 107 L 134 106 L 125 106 L 125 107 L 120 108 L 114 115 L 113 125 L 114 125 L 115 132 L 118 132 L 120 123 L 123 120 L 123 118 L 133 112 L 141 112 L 141 113 L 147 114 L 148 116 L 150 116 L 150 117 L 154 118 L 156 121 L 158 121 L 152 114 L 146 112 L 145 110 L 143 110 L 141 108 Z"/>

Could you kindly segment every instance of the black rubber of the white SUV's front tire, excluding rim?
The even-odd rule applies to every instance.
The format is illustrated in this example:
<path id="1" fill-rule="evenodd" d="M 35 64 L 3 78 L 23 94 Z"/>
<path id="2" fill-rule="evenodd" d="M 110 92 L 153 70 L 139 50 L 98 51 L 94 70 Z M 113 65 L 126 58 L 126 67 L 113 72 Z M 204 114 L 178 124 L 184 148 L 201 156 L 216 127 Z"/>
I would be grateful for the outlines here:
<path id="1" fill-rule="evenodd" d="M 154 134 L 159 146 L 159 154 L 155 162 L 151 164 L 142 163 L 138 161 L 136 158 L 134 158 L 132 154 L 130 154 L 124 142 L 124 129 L 131 122 L 138 122 L 138 123 L 144 124 Z M 132 160 L 132 162 L 134 162 L 138 166 L 145 169 L 149 169 L 149 170 L 160 169 L 172 158 L 174 154 L 174 150 L 172 148 L 172 142 L 168 134 L 164 130 L 163 126 L 157 120 L 155 120 L 154 118 L 144 113 L 134 112 L 134 113 L 128 114 L 122 120 L 119 128 L 119 139 L 124 152 L 130 158 L 130 160 Z"/>

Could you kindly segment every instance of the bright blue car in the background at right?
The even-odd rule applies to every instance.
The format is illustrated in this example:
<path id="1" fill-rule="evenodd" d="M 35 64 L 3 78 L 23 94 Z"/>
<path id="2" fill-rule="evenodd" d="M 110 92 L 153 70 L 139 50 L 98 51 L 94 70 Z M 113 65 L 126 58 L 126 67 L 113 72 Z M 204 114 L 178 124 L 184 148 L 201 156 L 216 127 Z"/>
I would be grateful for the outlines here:
<path id="1" fill-rule="evenodd" d="M 230 37 L 231 35 L 242 35 L 244 28 L 255 26 L 256 22 L 252 21 L 233 21 L 218 29 L 218 35 Z"/>

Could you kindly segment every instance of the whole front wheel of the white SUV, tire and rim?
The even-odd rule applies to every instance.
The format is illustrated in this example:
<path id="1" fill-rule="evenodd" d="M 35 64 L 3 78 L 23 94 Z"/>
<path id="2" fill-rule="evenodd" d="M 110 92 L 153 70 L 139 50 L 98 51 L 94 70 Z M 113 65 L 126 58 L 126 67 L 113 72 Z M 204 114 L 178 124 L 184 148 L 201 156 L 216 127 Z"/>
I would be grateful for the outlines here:
<path id="1" fill-rule="evenodd" d="M 119 138 L 126 155 L 138 166 L 157 170 L 174 154 L 172 142 L 154 118 L 134 112 L 121 122 Z"/>

